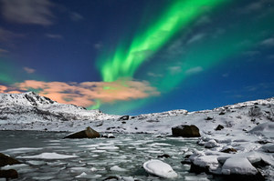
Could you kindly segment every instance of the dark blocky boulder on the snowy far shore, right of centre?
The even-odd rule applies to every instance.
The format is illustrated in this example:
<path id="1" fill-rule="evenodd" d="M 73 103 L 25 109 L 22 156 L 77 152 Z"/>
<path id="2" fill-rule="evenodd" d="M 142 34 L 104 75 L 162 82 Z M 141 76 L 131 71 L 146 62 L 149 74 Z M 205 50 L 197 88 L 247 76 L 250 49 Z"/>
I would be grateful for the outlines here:
<path id="1" fill-rule="evenodd" d="M 173 136 L 183 136 L 183 137 L 200 137 L 199 128 L 197 126 L 191 125 L 181 125 L 172 127 Z"/>

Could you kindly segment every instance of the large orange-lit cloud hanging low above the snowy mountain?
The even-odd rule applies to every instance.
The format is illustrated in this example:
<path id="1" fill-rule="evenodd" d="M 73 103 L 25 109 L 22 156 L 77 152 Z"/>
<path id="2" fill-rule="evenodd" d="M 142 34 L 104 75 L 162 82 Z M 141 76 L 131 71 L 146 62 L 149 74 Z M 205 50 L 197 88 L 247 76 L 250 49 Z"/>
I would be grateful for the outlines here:
<path id="1" fill-rule="evenodd" d="M 0 92 L 26 92 L 37 89 L 38 94 L 47 96 L 58 103 L 77 106 L 94 106 L 100 103 L 114 103 L 115 101 L 129 101 L 149 96 L 158 96 L 160 93 L 146 81 L 119 80 L 107 82 L 43 82 L 26 80 L 16 83 L 13 87 L 1 85 Z"/>

